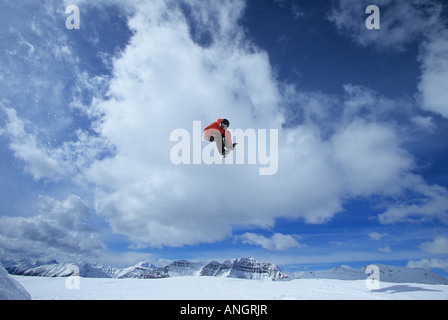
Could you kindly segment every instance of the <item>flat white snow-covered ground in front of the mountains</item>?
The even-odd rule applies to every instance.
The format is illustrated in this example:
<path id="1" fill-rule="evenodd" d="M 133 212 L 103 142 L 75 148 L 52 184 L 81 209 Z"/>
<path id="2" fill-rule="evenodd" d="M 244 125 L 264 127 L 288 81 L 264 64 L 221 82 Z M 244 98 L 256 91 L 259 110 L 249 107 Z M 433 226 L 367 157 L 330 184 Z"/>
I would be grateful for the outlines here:
<path id="1" fill-rule="evenodd" d="M 381 282 L 379 289 L 370 290 L 364 280 L 260 281 L 197 276 L 165 279 L 13 276 L 13 279 L 34 300 L 448 300 L 448 285 Z"/>

